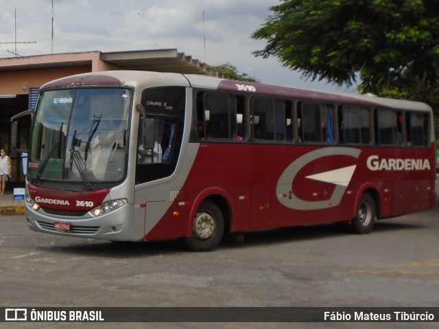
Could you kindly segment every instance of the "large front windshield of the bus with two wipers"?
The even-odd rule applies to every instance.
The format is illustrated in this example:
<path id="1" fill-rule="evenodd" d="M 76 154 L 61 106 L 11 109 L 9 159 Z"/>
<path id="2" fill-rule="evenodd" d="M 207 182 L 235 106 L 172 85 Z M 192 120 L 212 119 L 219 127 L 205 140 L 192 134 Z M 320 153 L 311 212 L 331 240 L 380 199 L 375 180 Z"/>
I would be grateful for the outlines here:
<path id="1" fill-rule="evenodd" d="M 29 181 L 62 181 L 93 190 L 126 176 L 132 91 L 87 88 L 42 91 L 29 154 Z"/>

